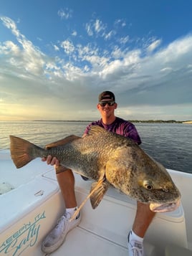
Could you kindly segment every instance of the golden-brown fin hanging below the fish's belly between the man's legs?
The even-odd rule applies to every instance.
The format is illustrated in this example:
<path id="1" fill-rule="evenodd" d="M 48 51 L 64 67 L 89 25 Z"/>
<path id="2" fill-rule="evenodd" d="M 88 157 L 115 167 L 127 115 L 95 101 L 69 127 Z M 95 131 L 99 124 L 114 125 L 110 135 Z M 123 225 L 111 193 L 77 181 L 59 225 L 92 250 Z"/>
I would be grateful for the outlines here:
<path id="1" fill-rule="evenodd" d="M 109 186 L 110 185 L 107 183 L 107 181 L 102 181 L 102 183 L 100 183 L 100 181 L 92 183 L 92 186 L 90 189 L 90 194 L 92 194 L 90 196 L 92 209 L 95 209 L 100 204 Z"/>

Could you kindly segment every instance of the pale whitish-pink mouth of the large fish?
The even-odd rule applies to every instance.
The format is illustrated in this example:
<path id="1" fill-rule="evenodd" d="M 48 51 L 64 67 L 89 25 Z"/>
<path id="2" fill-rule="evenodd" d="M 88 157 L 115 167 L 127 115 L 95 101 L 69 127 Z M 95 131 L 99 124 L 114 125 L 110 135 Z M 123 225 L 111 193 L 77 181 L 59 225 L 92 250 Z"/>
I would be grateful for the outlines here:
<path id="1" fill-rule="evenodd" d="M 150 210 L 152 212 L 172 212 L 179 207 L 180 203 L 180 200 L 165 204 L 150 203 Z"/>

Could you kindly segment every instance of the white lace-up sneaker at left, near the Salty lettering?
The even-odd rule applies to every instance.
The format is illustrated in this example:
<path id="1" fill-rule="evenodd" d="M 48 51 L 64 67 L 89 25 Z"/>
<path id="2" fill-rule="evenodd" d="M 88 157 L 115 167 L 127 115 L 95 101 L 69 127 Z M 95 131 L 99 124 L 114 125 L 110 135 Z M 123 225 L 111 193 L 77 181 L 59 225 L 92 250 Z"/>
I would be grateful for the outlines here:
<path id="1" fill-rule="evenodd" d="M 58 220 L 57 225 L 43 240 L 42 252 L 54 252 L 62 245 L 67 233 L 76 227 L 81 221 L 81 214 L 79 214 L 76 219 L 69 221 L 71 217 L 72 216 L 67 212 Z"/>

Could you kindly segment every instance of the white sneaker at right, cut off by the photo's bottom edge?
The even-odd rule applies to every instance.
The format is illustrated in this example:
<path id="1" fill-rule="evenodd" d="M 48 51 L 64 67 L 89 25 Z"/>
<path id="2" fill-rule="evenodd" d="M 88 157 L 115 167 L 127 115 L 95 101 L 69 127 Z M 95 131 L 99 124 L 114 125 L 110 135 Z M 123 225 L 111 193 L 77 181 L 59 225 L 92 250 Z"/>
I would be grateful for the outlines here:
<path id="1" fill-rule="evenodd" d="M 131 232 L 131 231 L 130 231 Z M 143 242 L 130 240 L 130 232 L 128 234 L 128 252 L 129 256 L 145 256 Z"/>

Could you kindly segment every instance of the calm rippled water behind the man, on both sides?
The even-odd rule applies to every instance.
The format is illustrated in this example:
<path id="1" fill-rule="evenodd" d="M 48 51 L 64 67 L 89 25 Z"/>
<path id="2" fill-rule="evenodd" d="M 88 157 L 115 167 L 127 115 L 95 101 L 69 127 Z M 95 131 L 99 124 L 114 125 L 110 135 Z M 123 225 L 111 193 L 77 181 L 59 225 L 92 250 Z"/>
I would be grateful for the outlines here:
<path id="1" fill-rule="evenodd" d="M 75 134 L 82 136 L 87 122 L 0 121 L 0 150 L 9 149 L 9 135 L 38 146 Z M 141 147 L 165 168 L 192 173 L 192 125 L 182 123 L 135 123 Z"/>

